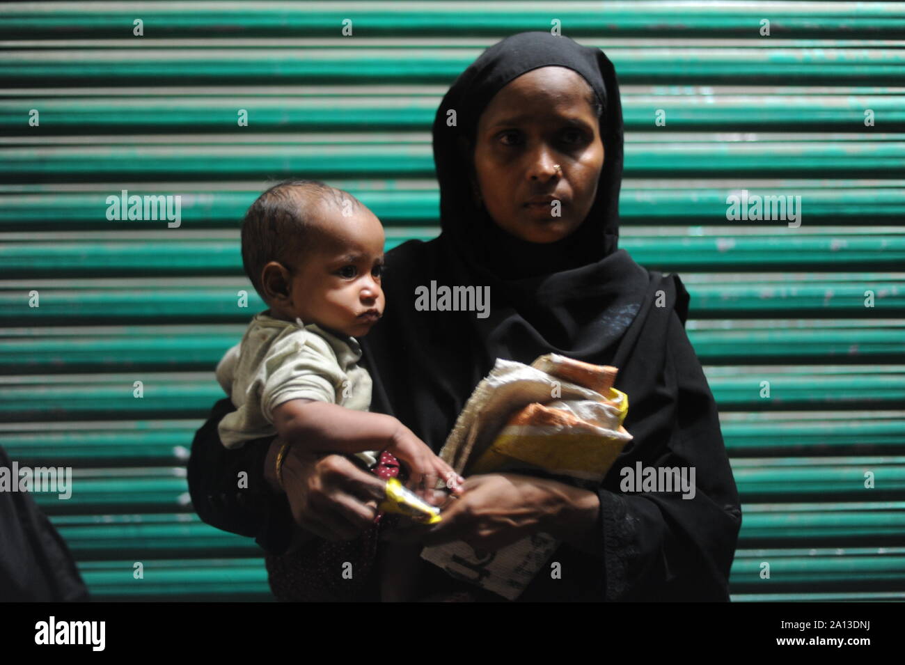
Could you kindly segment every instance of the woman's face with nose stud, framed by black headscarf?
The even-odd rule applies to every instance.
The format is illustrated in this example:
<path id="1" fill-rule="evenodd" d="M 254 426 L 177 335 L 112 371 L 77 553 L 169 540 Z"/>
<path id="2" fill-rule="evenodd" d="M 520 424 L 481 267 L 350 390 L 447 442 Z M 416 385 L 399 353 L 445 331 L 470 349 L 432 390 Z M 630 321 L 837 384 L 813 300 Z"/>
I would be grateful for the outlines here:
<path id="1" fill-rule="evenodd" d="M 475 177 L 500 228 L 529 242 L 555 242 L 584 222 L 604 166 L 591 94 L 575 71 L 542 67 L 510 81 L 484 109 Z"/>

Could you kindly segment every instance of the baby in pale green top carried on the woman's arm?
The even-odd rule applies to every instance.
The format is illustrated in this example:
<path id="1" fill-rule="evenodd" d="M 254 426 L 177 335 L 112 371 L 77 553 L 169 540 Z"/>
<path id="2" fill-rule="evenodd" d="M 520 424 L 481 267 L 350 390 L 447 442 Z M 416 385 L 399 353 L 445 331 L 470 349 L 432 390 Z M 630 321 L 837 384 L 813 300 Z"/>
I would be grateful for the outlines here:
<path id="1" fill-rule="evenodd" d="M 276 185 L 245 214 L 242 259 L 270 309 L 252 318 L 217 366 L 236 407 L 219 425 L 224 446 L 279 434 L 312 451 L 354 454 L 368 468 L 389 451 L 426 498 L 438 478 L 458 488 L 462 478 L 414 432 L 368 413 L 371 377 L 357 365 L 355 337 L 384 311 L 384 230 L 375 214 L 319 181 Z"/>

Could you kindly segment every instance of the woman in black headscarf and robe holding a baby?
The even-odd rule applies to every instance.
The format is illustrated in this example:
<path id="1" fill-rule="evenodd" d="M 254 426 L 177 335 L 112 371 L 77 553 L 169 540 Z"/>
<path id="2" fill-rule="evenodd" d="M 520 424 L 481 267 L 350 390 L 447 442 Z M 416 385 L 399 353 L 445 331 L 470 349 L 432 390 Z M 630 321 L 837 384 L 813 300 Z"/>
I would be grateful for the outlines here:
<path id="1" fill-rule="evenodd" d="M 542 570 L 525 601 L 728 600 L 741 514 L 716 405 L 684 331 L 689 296 L 678 277 L 647 271 L 616 247 L 623 120 L 612 63 L 567 37 L 511 36 L 443 98 L 433 151 L 442 233 L 387 253 L 385 317 L 362 339 L 372 410 L 439 451 L 496 358 L 528 364 L 555 352 L 619 368 L 634 438 L 596 491 L 515 473 L 472 476 L 439 525 L 381 532 L 488 551 L 550 533 L 563 541 L 551 558 L 561 577 Z M 489 287 L 489 315 L 415 309 L 415 288 L 434 281 Z M 291 453 L 281 494 L 276 442 L 226 451 L 217 441 L 216 423 L 232 408 L 224 402 L 195 437 L 189 465 L 201 517 L 257 537 L 278 597 L 380 597 L 376 564 L 392 568 L 398 551 L 378 545 L 372 528 L 381 481 L 337 455 Z M 636 462 L 693 468 L 693 498 L 621 491 L 620 470 Z M 236 492 L 240 470 L 250 489 Z M 340 575 L 352 560 L 354 582 Z M 409 593 L 395 597 L 498 599 L 420 559 L 409 559 L 392 585 L 400 587 Z M 385 577 L 385 598 L 388 588 Z"/>

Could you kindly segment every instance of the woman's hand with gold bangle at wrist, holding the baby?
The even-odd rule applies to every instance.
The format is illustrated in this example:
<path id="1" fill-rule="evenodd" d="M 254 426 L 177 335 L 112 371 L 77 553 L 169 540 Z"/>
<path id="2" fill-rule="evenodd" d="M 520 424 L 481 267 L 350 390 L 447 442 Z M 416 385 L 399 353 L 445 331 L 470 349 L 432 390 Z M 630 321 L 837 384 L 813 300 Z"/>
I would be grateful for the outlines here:
<path id="1" fill-rule="evenodd" d="M 277 439 L 271 451 L 280 446 Z M 275 459 L 275 452 L 268 455 L 268 462 Z M 374 523 L 377 502 L 386 495 L 385 480 L 348 458 L 308 452 L 300 446 L 291 446 L 286 453 L 281 476 L 295 523 L 327 540 L 351 540 L 360 535 Z"/>

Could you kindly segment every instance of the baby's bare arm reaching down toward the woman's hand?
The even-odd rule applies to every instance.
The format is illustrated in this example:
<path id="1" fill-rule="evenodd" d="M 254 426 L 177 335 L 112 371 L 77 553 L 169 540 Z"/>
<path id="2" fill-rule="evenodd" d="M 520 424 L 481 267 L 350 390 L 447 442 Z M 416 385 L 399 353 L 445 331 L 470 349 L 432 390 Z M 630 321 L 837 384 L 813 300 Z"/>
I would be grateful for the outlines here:
<path id="1" fill-rule="evenodd" d="M 286 442 L 316 452 L 389 451 L 412 471 L 411 482 L 433 489 L 438 478 L 454 488 L 463 480 L 426 443 L 391 415 L 291 399 L 273 409 L 273 425 Z"/>

